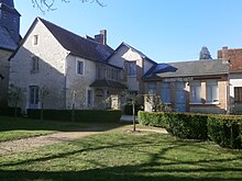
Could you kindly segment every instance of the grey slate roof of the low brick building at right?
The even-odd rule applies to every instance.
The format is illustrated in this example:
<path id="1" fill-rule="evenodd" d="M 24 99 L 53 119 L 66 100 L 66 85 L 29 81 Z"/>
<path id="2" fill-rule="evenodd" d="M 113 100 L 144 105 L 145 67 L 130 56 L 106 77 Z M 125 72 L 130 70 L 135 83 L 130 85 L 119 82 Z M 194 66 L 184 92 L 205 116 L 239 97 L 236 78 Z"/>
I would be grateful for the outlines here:
<path id="1" fill-rule="evenodd" d="M 144 75 L 143 80 L 223 73 L 229 73 L 229 64 L 222 59 L 178 61 L 157 64 Z"/>

